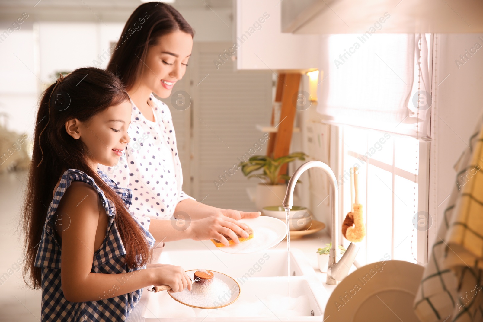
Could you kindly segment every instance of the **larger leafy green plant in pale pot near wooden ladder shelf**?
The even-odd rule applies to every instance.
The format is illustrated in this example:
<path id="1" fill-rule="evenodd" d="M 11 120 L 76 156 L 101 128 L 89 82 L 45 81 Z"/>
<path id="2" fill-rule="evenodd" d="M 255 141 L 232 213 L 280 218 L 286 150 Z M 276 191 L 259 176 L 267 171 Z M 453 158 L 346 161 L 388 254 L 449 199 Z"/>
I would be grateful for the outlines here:
<path id="1" fill-rule="evenodd" d="M 279 158 L 272 158 L 267 155 L 254 155 L 248 161 L 241 162 L 240 167 L 243 174 L 248 178 L 256 177 L 262 182 L 256 186 L 256 208 L 259 211 L 266 206 L 280 206 L 287 191 L 287 184 L 280 183 L 283 180 L 290 180 L 290 176 L 280 174 L 280 169 L 286 163 L 295 160 L 305 160 L 306 154 L 294 152 Z M 261 173 L 254 171 L 263 169 Z M 253 173 L 253 174 L 252 174 Z"/>

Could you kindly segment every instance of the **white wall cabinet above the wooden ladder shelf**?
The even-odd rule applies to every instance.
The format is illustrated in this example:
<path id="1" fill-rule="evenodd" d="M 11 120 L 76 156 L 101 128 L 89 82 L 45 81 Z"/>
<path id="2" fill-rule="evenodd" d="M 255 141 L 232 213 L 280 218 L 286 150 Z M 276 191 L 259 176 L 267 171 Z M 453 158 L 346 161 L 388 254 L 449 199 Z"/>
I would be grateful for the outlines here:
<path id="1" fill-rule="evenodd" d="M 318 67 L 319 36 L 281 31 L 280 0 L 236 0 L 233 47 L 218 56 L 223 64 L 236 55 L 238 70 L 308 70 Z M 236 53 L 236 54 L 235 54 Z"/>

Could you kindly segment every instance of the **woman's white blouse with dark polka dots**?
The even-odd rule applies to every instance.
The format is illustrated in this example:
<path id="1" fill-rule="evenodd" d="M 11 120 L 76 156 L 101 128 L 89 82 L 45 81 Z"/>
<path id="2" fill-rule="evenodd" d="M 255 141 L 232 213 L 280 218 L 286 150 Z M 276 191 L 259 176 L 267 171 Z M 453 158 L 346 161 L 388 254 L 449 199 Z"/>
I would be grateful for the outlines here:
<path id="1" fill-rule="evenodd" d="M 147 120 L 131 101 L 131 141 L 114 167 L 98 165 L 120 187 L 132 190 L 129 208 L 149 229 L 151 218 L 172 219 L 181 200 L 193 199 L 182 191 L 183 172 L 168 106 L 152 94 L 155 122 Z"/>

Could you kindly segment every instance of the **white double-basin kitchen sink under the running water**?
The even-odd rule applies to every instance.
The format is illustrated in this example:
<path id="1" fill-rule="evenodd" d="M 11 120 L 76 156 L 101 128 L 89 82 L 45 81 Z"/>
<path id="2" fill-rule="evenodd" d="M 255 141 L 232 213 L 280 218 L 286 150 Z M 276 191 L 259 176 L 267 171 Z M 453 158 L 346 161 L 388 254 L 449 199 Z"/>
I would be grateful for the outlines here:
<path id="1" fill-rule="evenodd" d="M 322 321 L 329 294 L 317 279 L 305 255 L 290 250 L 290 296 L 287 252 L 234 255 L 211 250 L 162 252 L 159 263 L 189 269 L 211 269 L 238 281 L 238 300 L 224 308 L 198 309 L 174 301 L 166 292 L 147 295 L 142 316 L 149 321 Z"/>

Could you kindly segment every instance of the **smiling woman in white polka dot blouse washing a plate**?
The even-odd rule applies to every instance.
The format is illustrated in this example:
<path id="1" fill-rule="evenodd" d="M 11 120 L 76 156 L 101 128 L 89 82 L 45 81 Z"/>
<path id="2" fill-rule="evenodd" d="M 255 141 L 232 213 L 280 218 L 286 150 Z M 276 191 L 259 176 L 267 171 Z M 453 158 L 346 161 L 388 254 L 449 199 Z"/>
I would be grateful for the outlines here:
<path id="1" fill-rule="evenodd" d="M 126 84 L 132 104 L 131 142 L 117 166 L 107 168 L 114 182 L 133 190 L 130 210 L 162 247 L 163 241 L 192 238 L 238 243 L 245 225 L 260 212 L 211 207 L 186 195 L 167 98 L 185 74 L 193 46 L 193 29 L 168 4 L 140 5 L 129 17 L 107 67 Z M 122 152 L 120 151 L 121 155 Z M 156 219 L 177 219 L 156 220 Z M 153 220 L 151 220 L 153 219 Z M 155 256 L 156 257 L 156 256 Z"/>

